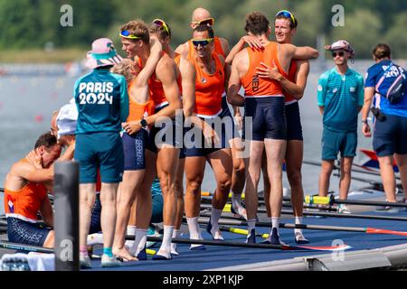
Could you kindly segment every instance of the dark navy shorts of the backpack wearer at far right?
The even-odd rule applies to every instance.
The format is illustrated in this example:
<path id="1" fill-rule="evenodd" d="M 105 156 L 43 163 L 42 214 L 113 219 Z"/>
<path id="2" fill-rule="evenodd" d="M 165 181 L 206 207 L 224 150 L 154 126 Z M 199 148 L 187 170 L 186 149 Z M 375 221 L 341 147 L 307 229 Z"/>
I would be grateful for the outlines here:
<path id="1" fill-rule="evenodd" d="M 374 122 L 374 152 L 378 156 L 407 154 L 407 117 L 385 117 Z"/>

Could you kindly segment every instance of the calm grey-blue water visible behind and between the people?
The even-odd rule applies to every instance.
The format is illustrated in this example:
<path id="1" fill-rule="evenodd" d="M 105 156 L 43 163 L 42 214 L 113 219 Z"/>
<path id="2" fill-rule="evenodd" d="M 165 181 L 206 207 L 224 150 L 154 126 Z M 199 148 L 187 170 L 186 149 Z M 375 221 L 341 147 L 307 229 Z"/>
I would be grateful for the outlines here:
<path id="1" fill-rule="evenodd" d="M 400 63 L 404 64 L 404 63 Z M 371 61 L 355 62 L 355 70 L 364 74 Z M 332 63 L 327 63 L 330 68 Z M 404 65 L 405 66 L 405 65 Z M 24 68 L 23 68 L 24 69 Z M 25 68 L 33 71 L 33 68 Z M 52 66 L 52 69 L 54 67 Z M 4 187 L 5 174 L 10 166 L 23 158 L 43 132 L 50 129 L 52 111 L 62 107 L 72 97 L 73 84 L 76 78 L 61 75 L 33 77 L 33 73 L 21 76 L 5 76 L 0 78 L 0 180 Z M 317 107 L 317 79 L 323 70 L 317 65 L 311 65 L 308 86 L 304 98 L 300 101 L 300 111 L 304 132 L 304 159 L 320 160 L 320 138 L 322 133 L 322 117 Z M 371 148 L 371 139 L 359 134 L 359 147 Z M 363 156 L 356 156 L 355 162 L 360 162 Z M 214 191 L 215 182 L 209 165 L 206 167 L 204 191 Z M 303 183 L 307 194 L 317 192 L 319 168 L 310 165 L 303 166 Z M 332 177 L 331 190 L 337 188 L 337 178 Z M 363 182 L 353 182 L 352 188 L 363 186 Z M 288 187 L 287 179 L 284 186 Z M 260 190 L 262 184 L 260 181 Z M 3 212 L 3 196 L 0 195 Z"/>

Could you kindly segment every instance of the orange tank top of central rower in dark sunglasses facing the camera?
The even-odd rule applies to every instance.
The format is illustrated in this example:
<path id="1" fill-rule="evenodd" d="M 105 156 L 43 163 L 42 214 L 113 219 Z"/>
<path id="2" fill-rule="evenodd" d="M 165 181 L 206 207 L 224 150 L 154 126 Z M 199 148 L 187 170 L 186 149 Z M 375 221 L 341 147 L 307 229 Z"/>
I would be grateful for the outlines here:
<path id="1" fill-rule="evenodd" d="M 213 51 L 212 57 L 215 61 L 213 74 L 205 73 L 195 58 L 190 59 L 196 70 L 194 113 L 198 117 L 217 117 L 222 112 L 224 69 L 218 54 Z"/>

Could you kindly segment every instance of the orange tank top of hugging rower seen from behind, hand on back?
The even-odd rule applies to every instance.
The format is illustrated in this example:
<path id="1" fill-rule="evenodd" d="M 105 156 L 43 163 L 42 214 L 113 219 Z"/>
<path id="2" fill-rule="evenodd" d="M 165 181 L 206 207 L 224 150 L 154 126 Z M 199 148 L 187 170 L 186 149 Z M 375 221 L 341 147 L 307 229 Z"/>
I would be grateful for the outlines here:
<path id="1" fill-rule="evenodd" d="M 283 71 L 277 58 L 277 42 L 270 42 L 262 51 L 246 48 L 249 53 L 249 70 L 241 78 L 241 85 L 246 98 L 283 97 L 283 89 L 279 82 L 271 79 L 260 79 L 256 72 L 261 67 L 260 62 L 272 65 L 273 61 Z M 286 73 L 284 73 L 287 75 Z"/>

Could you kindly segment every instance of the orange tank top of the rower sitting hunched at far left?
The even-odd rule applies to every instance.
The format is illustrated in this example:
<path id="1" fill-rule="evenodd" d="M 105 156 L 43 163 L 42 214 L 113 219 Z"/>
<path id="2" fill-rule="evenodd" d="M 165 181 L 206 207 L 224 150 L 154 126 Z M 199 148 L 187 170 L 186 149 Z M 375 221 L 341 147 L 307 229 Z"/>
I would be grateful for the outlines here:
<path id="1" fill-rule="evenodd" d="M 20 191 L 5 188 L 5 216 L 36 223 L 44 198 L 47 190 L 42 183 L 28 182 Z"/>

